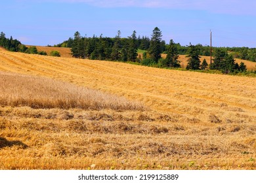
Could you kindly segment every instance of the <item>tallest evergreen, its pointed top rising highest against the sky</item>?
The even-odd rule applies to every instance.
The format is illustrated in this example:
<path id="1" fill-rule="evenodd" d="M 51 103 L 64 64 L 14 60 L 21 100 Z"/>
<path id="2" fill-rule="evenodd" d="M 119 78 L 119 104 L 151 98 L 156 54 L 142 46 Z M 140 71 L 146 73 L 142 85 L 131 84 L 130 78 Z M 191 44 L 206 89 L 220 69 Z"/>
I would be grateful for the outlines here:
<path id="1" fill-rule="evenodd" d="M 152 33 L 150 41 L 150 58 L 154 60 L 154 63 L 158 63 L 161 58 L 161 31 L 158 27 L 155 27 Z"/>

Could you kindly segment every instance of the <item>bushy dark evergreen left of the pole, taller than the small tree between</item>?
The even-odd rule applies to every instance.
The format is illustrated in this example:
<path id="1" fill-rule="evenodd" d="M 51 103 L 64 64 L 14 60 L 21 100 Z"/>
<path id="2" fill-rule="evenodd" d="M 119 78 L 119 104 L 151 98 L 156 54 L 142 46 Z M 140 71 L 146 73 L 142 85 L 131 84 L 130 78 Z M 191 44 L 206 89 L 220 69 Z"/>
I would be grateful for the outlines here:
<path id="1" fill-rule="evenodd" d="M 188 46 L 188 65 L 186 66 L 186 69 L 192 69 L 192 70 L 198 70 L 200 69 L 200 49 L 198 46 L 194 46 L 190 43 Z"/>

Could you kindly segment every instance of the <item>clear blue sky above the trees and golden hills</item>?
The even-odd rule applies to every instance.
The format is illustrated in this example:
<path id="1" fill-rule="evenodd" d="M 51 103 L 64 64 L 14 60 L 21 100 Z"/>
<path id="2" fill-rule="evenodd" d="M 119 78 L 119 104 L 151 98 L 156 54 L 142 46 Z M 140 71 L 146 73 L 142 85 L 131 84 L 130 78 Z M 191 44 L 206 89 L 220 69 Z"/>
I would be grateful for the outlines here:
<path id="1" fill-rule="evenodd" d="M 151 37 L 182 45 L 256 47 L 255 0 L 9 0 L 1 1 L 0 31 L 23 44 L 58 44 L 75 31 L 92 37 Z"/>

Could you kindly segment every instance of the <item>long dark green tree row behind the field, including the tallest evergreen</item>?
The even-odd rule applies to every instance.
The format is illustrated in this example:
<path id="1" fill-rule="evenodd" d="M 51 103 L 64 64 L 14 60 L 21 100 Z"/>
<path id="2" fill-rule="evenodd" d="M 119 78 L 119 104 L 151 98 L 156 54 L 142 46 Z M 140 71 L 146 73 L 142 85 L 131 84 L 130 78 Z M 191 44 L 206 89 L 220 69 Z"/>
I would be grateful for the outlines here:
<path id="1" fill-rule="evenodd" d="M 230 54 L 226 48 L 214 48 L 213 63 L 208 65 L 204 59 L 201 63 L 200 56 L 209 56 L 209 46 L 202 44 L 181 46 L 173 40 L 169 44 L 161 39 L 162 34 L 158 27 L 152 31 L 152 37 L 137 38 L 136 31 L 127 38 L 121 38 L 121 32 L 117 31 L 115 38 L 110 37 L 82 37 L 77 31 L 74 39 L 62 42 L 61 46 L 70 46 L 74 58 L 88 58 L 112 61 L 133 61 L 141 65 L 152 67 L 171 68 L 181 67 L 179 54 L 186 54 L 188 65 L 186 69 L 205 70 L 214 69 L 223 73 L 239 73 L 246 71 L 246 66 L 242 62 L 240 65 L 235 62 L 233 54 Z M 60 46 L 56 45 L 56 46 Z M 144 50 L 141 56 L 138 56 L 139 48 Z M 161 58 L 165 53 L 166 58 Z"/>

